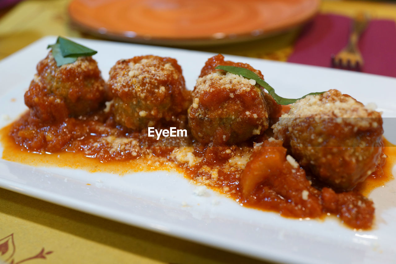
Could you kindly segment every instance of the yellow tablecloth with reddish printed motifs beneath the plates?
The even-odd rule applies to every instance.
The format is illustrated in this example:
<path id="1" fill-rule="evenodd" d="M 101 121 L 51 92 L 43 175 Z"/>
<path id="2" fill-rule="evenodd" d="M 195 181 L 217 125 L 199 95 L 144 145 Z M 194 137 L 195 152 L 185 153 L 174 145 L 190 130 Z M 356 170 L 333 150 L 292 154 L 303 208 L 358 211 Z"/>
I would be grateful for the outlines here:
<path id="1" fill-rule="evenodd" d="M 27 0 L 0 13 L 0 59 L 46 35 L 91 38 L 70 27 L 68 2 Z M 325 0 L 321 6 L 322 13 L 353 16 L 359 11 L 396 20 L 395 4 Z M 297 35 L 292 31 L 265 40 L 201 50 L 285 61 Z M 245 51 L 241 51 L 242 45 Z M 14 243 L 2 244 L 11 239 L 11 234 Z M 10 245 L 8 250 L 2 247 L 5 244 Z M 7 258 L 8 262 L 14 259 L 14 264 L 28 258 L 29 264 L 259 262 L 0 188 L 0 260 Z"/>

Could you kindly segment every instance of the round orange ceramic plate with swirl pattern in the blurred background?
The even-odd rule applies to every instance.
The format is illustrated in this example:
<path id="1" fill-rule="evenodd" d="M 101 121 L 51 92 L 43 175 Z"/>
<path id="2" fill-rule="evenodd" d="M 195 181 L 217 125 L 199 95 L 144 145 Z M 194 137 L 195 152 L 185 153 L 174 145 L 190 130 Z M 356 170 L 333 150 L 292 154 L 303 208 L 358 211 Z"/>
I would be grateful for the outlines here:
<path id="1" fill-rule="evenodd" d="M 304 23 L 320 0 L 73 0 L 86 32 L 131 42 L 215 44 L 279 33 Z"/>

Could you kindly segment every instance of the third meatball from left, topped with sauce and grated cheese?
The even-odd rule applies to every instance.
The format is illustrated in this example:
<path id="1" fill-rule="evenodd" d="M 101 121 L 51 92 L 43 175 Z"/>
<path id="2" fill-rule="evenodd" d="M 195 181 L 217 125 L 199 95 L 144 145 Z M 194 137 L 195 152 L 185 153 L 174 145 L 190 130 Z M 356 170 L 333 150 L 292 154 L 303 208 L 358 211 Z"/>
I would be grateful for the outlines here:
<path id="1" fill-rule="evenodd" d="M 278 105 L 255 80 L 215 69 L 218 65 L 244 67 L 263 78 L 249 64 L 224 61 L 220 54 L 209 58 L 188 108 L 192 135 L 201 143 L 234 144 L 262 134 L 268 128 L 268 117 L 279 110 Z"/>

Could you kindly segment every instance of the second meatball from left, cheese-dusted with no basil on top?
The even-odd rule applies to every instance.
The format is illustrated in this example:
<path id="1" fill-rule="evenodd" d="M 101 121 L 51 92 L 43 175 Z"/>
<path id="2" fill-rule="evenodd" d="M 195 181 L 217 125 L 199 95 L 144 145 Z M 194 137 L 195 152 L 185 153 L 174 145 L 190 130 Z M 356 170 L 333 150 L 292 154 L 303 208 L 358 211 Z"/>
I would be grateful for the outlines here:
<path id="1" fill-rule="evenodd" d="M 181 114 L 191 104 L 181 67 L 172 58 L 121 59 L 110 70 L 108 83 L 115 120 L 128 128 L 152 126 L 162 117 Z"/>

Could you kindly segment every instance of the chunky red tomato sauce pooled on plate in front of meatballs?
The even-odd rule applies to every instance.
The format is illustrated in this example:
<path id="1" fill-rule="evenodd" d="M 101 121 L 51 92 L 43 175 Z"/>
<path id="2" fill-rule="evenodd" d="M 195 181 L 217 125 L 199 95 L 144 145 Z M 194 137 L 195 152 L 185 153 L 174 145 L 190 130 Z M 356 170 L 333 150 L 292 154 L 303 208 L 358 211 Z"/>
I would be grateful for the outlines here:
<path id="1" fill-rule="evenodd" d="M 178 120 L 176 123 L 179 127 L 185 126 L 183 120 Z M 75 132 L 68 133 L 67 130 L 64 130 L 65 124 L 73 124 Z M 38 151 L 37 149 L 28 150 L 24 146 L 23 141 L 18 141 L 17 135 L 32 125 L 43 126 L 41 131 L 51 130 L 54 132 L 55 138 L 59 138 L 58 143 L 63 146 L 57 145 L 54 147 L 56 151 L 51 154 L 43 149 Z M 171 124 L 165 126 L 169 127 Z M 98 131 L 101 131 L 101 133 L 98 133 Z M 84 133 L 85 136 L 78 138 L 80 136 L 79 133 Z M 111 115 L 103 111 L 87 116 L 84 119 L 69 118 L 64 122 L 51 124 L 50 128 L 46 128 L 44 124 L 30 122 L 29 114 L 26 114 L 18 121 L 3 128 L 1 136 L 4 145 L 3 159 L 8 161 L 34 166 L 60 166 L 85 169 L 89 172 L 110 172 L 114 174 L 125 174 L 142 170 L 177 170 L 184 173 L 187 178 L 194 180 L 197 184 L 204 184 L 224 193 L 244 206 L 275 211 L 282 216 L 294 218 L 317 218 L 331 213 L 341 218 L 348 226 L 363 229 L 369 228 L 372 224 L 373 207 L 372 202 L 362 197 L 359 193 L 367 194 L 373 188 L 382 186 L 385 182 L 392 179 L 391 169 L 396 157 L 395 148 L 385 140 L 384 153 L 388 156 L 386 164 L 379 168 L 363 184 L 356 187 L 354 192 L 335 193 L 329 188 L 324 188 L 320 191 L 310 186 L 305 177 L 305 171 L 301 168 L 298 169 L 297 174 L 293 175 L 290 172 L 289 163 L 285 163 L 286 150 L 279 146 L 273 147 L 272 151 L 276 153 L 275 155 L 279 155 L 280 161 L 277 164 L 275 159 L 271 163 L 275 165 L 274 168 L 276 170 L 280 170 L 278 171 L 279 173 L 272 175 L 272 180 L 269 184 L 263 187 L 262 183 L 261 187 L 255 189 L 253 197 L 256 198 L 251 199 L 250 197 L 246 199 L 240 184 L 243 168 L 230 166 L 228 159 L 232 158 L 232 156 L 238 157 L 238 154 L 250 156 L 253 142 L 261 142 L 263 138 L 268 138 L 268 136 L 261 136 L 260 139 L 256 138 L 250 142 L 240 144 L 240 146 L 235 145 L 232 147 L 208 147 L 200 145 L 194 142 L 192 138 L 187 137 L 184 140 L 191 143 L 194 155 L 197 159 L 201 159 L 190 166 L 188 166 L 187 161 L 178 160 L 175 153 L 172 153 L 175 146 L 180 142 L 169 140 L 170 138 L 161 138 L 157 141 L 154 138 L 148 138 L 147 131 L 143 131 L 140 134 L 131 133 L 124 127 L 118 126 L 112 120 Z M 43 136 L 45 137 L 45 133 Z M 136 155 L 133 155 L 132 151 L 128 152 L 128 150 L 114 150 L 112 149 L 114 145 L 103 141 L 103 138 L 109 136 L 114 137 L 114 139 L 140 140 L 141 149 Z M 34 140 L 37 140 L 37 138 Z M 41 143 L 43 142 L 44 140 L 41 141 Z M 44 144 L 43 147 L 51 148 L 52 145 Z M 280 153 L 277 153 L 279 151 Z M 287 166 L 286 169 L 285 166 Z M 252 171 L 259 171 L 254 167 L 251 169 Z M 261 170 L 263 170 L 262 167 Z M 274 177 L 274 175 L 278 176 Z M 286 188 L 284 187 L 286 184 L 280 184 L 284 183 L 285 180 L 287 180 Z M 297 194 L 293 196 L 293 194 L 287 193 L 290 189 L 299 190 L 299 192 L 296 192 Z M 304 189 L 308 190 L 308 200 L 301 199 L 301 190 Z M 293 203 L 287 201 L 287 195 L 293 200 Z M 345 205 L 350 204 L 358 208 L 358 214 L 350 214 L 350 211 L 343 211 L 346 208 Z M 362 210 L 362 204 L 369 210 Z"/>

